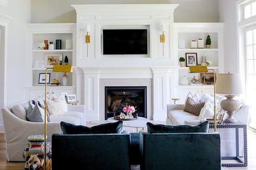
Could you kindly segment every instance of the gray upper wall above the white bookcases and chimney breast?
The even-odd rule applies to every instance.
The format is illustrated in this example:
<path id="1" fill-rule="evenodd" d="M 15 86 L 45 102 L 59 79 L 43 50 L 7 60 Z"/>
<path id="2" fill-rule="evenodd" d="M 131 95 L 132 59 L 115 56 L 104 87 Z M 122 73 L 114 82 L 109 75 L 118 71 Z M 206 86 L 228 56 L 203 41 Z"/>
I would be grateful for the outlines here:
<path id="1" fill-rule="evenodd" d="M 225 0 L 226 1 L 226 0 Z M 177 3 L 174 22 L 219 22 L 218 0 L 32 0 L 32 23 L 76 23 L 71 4 Z"/>

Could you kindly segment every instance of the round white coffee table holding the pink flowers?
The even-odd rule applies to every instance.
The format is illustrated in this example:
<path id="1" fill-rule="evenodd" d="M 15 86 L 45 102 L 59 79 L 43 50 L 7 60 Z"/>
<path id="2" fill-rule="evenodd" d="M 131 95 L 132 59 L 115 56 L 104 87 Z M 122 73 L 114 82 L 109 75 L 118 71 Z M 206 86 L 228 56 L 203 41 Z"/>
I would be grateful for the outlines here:
<path id="1" fill-rule="evenodd" d="M 118 120 L 115 120 L 112 117 L 112 118 L 108 118 L 108 121 L 111 123 L 114 123 Z M 147 127 L 147 122 L 150 122 L 150 120 L 146 118 L 138 117 L 136 120 L 123 121 L 123 126 L 135 127 L 137 128 L 137 132 L 138 132 L 138 128 L 142 128 L 142 130 L 144 130 L 144 128 Z"/>

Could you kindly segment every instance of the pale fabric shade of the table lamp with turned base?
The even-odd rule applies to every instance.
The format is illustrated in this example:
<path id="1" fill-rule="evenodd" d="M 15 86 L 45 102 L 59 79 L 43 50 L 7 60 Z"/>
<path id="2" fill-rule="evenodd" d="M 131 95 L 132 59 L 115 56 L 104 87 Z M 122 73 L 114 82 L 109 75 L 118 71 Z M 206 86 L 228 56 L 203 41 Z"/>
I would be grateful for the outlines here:
<path id="1" fill-rule="evenodd" d="M 216 93 L 235 95 L 243 92 L 240 74 L 218 73 L 216 77 Z"/>

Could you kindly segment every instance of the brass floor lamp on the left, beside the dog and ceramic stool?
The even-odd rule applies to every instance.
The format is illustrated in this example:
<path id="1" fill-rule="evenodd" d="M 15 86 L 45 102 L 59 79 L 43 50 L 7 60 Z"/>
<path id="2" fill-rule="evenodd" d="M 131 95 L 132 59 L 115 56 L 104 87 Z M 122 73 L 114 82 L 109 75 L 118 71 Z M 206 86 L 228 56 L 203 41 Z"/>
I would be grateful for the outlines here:
<path id="1" fill-rule="evenodd" d="M 54 65 L 45 69 L 45 93 L 44 93 L 44 165 L 46 164 L 46 133 L 47 133 L 47 70 L 52 72 L 73 72 L 72 65 Z"/>

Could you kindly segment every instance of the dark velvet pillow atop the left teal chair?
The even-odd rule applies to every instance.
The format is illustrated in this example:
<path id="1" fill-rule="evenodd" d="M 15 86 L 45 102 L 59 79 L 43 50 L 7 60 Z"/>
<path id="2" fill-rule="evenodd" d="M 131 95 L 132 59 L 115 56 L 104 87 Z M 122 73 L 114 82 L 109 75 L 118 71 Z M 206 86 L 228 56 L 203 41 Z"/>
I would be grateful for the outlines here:
<path id="1" fill-rule="evenodd" d="M 123 121 L 119 120 L 115 123 L 101 124 L 93 127 L 82 125 L 73 125 L 61 121 L 61 130 L 63 134 L 107 134 L 121 133 Z"/>

